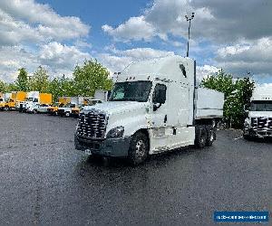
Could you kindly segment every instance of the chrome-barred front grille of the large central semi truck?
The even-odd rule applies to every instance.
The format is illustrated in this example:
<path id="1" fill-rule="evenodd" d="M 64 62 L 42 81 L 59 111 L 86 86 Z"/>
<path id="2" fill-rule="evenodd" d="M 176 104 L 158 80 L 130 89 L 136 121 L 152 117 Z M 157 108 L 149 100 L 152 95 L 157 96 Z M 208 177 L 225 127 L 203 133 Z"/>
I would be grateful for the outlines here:
<path id="1" fill-rule="evenodd" d="M 106 114 L 92 110 L 80 115 L 77 134 L 81 137 L 102 139 L 105 137 L 106 127 Z"/>

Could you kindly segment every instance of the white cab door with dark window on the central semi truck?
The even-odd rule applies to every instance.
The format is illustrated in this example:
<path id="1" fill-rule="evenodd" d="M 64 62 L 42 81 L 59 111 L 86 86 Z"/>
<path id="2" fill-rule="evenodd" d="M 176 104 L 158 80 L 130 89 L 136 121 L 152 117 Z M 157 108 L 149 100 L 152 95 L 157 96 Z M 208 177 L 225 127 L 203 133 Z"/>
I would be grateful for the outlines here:
<path id="1" fill-rule="evenodd" d="M 167 86 L 163 82 L 157 83 L 153 90 L 151 105 L 151 148 L 153 152 L 160 152 L 167 148 L 167 105 Z"/>

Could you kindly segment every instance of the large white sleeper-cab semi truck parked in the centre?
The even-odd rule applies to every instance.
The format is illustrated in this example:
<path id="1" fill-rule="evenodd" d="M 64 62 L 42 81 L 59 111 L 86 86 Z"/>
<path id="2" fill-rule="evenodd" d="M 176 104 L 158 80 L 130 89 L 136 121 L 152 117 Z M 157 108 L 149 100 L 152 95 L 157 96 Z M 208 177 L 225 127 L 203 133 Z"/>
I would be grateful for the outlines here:
<path id="1" fill-rule="evenodd" d="M 211 146 L 223 103 L 222 93 L 196 88 L 196 62 L 189 58 L 135 62 L 118 75 L 109 101 L 83 109 L 75 148 L 138 165 L 181 146 Z"/>

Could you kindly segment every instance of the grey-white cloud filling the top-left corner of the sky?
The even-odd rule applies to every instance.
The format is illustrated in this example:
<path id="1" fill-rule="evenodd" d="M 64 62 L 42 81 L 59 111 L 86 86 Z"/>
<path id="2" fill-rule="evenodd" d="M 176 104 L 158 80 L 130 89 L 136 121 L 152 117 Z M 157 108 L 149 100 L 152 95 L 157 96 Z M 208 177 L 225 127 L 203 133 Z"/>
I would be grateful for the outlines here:
<path id="1" fill-rule="evenodd" d="M 61 16 L 49 5 L 37 4 L 34 0 L 2 0 L 0 8 L 5 12 L 1 14 L 5 30 L 13 30 L 19 35 L 23 31 L 16 31 L 18 26 L 26 26 L 28 36 L 34 36 L 34 39 L 39 36 L 47 41 L 74 39 L 89 33 L 89 25 L 83 24 L 78 17 Z M 3 24 L 0 27 L 3 28 Z"/>

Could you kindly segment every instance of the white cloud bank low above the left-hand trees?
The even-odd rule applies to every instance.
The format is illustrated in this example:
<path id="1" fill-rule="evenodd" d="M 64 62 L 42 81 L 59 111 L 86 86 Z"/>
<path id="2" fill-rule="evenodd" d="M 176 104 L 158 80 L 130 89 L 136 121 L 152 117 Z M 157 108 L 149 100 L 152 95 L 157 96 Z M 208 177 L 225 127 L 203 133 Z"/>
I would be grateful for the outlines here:
<path id="1" fill-rule="evenodd" d="M 19 46 L 5 46 L 0 48 L 0 80 L 15 80 L 17 70 L 22 67 L 31 75 L 39 65 L 45 67 L 51 77 L 63 74 L 71 76 L 76 64 L 90 58 L 89 53 L 59 42 L 50 42 L 39 52 L 28 52 Z"/>

